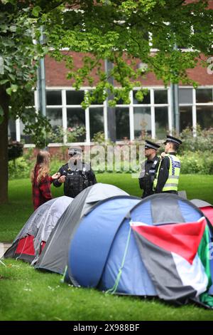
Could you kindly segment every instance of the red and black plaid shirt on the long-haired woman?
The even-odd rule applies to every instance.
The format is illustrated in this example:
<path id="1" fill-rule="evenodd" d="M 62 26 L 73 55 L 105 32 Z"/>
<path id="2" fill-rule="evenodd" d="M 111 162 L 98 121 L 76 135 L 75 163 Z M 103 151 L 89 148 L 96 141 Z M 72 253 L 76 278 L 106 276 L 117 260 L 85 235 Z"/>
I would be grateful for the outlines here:
<path id="1" fill-rule="evenodd" d="M 38 177 L 38 165 L 35 165 L 35 176 L 33 180 L 33 207 L 36 210 L 40 205 L 43 205 L 50 199 L 53 199 L 50 184 L 53 182 L 53 178 L 46 176 L 37 182 Z"/>

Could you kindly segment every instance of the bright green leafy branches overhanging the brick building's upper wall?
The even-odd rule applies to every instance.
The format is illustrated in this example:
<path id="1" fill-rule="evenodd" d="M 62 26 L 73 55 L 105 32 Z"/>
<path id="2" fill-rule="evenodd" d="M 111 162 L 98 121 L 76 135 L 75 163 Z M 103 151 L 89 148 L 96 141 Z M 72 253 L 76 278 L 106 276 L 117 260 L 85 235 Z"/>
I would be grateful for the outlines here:
<path id="1" fill-rule="evenodd" d="M 141 76 L 149 71 L 170 82 L 196 83 L 187 76 L 187 69 L 202 63 L 202 55 L 212 54 L 213 11 L 209 1 L 126 0 L 126 1 L 65 1 L 70 10 L 60 6 L 54 15 L 45 15 L 51 55 L 64 59 L 70 69 L 68 78 L 75 79 L 75 88 L 85 79 L 92 86 L 95 69 L 99 83 L 94 95 L 87 95 L 84 106 L 92 100 L 104 100 L 107 92 L 114 93 L 114 103 L 120 98 L 129 102 L 129 91 L 141 86 Z M 152 41 L 150 37 L 152 36 Z M 152 43 L 152 44 L 151 44 Z M 176 47 L 175 47 L 176 46 Z M 151 52 L 152 48 L 158 52 Z M 183 52 L 182 47 L 188 51 Z M 76 68 L 72 56 L 61 48 L 83 52 L 83 66 Z M 102 60 L 114 64 L 110 73 L 103 71 Z M 138 60 L 147 64 L 146 71 L 136 66 Z M 113 77 L 121 90 L 114 88 Z M 141 90 L 141 100 L 143 90 Z"/>

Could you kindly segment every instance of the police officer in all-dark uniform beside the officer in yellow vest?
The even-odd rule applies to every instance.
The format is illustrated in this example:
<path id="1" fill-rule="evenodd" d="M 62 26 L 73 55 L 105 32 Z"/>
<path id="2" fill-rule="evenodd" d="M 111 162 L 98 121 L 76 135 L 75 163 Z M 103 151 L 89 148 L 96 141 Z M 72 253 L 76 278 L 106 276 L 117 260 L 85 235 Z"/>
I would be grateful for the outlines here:
<path id="1" fill-rule="evenodd" d="M 153 195 L 154 193 L 153 180 L 160 160 L 156 155 L 158 148 L 160 148 L 160 145 L 146 140 L 145 156 L 147 160 L 145 162 L 145 170 L 141 171 L 141 177 L 139 177 L 139 185 L 143 190 L 142 198 L 148 197 L 148 195 Z"/>

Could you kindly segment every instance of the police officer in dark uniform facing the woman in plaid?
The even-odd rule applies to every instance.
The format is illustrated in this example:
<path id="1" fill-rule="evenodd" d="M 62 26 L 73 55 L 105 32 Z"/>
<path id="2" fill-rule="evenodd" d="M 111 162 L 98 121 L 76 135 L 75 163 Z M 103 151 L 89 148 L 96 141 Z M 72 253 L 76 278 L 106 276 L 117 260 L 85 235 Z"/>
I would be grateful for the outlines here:
<path id="1" fill-rule="evenodd" d="M 86 187 L 96 184 L 97 180 L 90 165 L 82 162 L 82 149 L 71 147 L 68 155 L 70 159 L 58 170 L 60 178 L 54 180 L 53 185 L 60 187 L 64 183 L 64 194 L 67 197 L 76 197 Z"/>

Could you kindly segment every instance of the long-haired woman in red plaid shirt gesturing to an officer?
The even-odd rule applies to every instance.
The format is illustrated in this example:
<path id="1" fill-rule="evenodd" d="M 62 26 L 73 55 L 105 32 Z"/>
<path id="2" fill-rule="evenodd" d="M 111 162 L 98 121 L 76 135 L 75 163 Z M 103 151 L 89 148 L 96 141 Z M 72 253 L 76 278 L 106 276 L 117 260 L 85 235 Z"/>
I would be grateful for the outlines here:
<path id="1" fill-rule="evenodd" d="M 60 177 L 60 173 L 57 172 L 50 177 L 49 171 L 50 154 L 48 151 L 40 150 L 36 158 L 35 167 L 31 171 L 34 210 L 48 200 L 53 199 L 50 191 L 50 184 L 54 179 Z"/>

